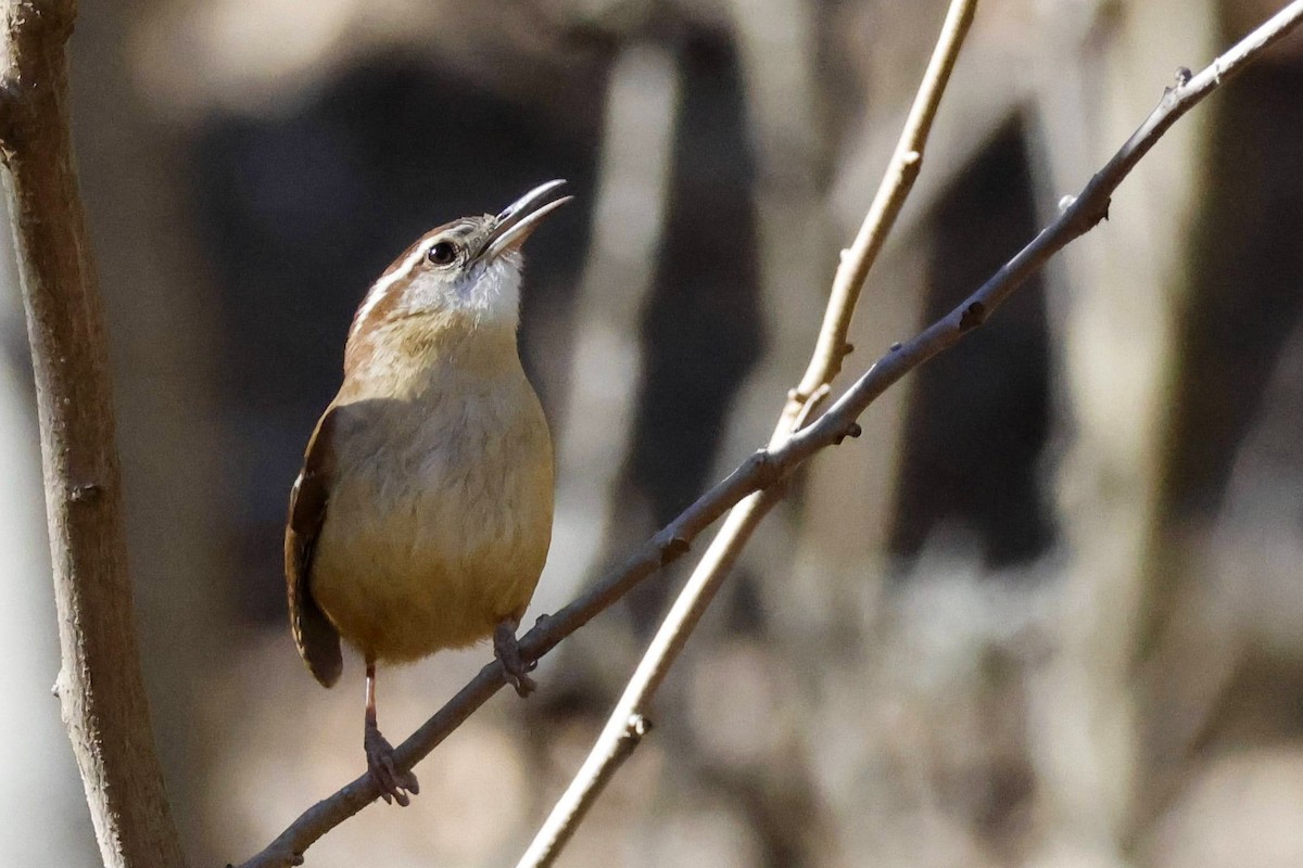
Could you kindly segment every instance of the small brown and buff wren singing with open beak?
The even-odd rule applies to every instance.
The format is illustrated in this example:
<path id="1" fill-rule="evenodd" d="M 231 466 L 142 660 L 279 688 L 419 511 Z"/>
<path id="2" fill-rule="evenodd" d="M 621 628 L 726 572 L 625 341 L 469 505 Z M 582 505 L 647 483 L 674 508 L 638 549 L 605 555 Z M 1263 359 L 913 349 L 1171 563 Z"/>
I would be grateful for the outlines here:
<path id="1" fill-rule="evenodd" d="M 551 540 L 552 446 L 516 350 L 520 249 L 569 200 L 547 202 L 562 183 L 426 233 L 380 275 L 289 493 L 294 644 L 326 687 L 340 636 L 366 660 L 362 743 L 386 802 L 418 785 L 377 726 L 377 662 L 491 634 L 516 691 L 534 686 L 516 629 Z"/>

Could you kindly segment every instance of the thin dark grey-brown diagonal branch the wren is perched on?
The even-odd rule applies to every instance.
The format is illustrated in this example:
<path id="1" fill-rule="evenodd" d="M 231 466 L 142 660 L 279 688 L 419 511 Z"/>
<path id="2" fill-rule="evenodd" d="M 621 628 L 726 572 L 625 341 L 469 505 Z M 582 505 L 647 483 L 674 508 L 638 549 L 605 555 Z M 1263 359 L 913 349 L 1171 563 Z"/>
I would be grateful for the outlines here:
<path id="1" fill-rule="evenodd" d="M 688 544 L 697 534 L 721 518 L 731 506 L 752 493 L 780 483 L 814 453 L 840 442 L 847 436 L 853 436 L 857 432 L 856 418 L 878 396 L 906 373 L 982 325 L 990 312 L 1042 268 L 1054 254 L 1102 220 L 1108 215 L 1113 191 L 1177 118 L 1300 22 L 1303 22 L 1303 0 L 1294 0 L 1197 75 L 1187 78 L 1182 74 L 1177 85 L 1167 88 L 1140 129 L 1108 165 L 1091 178 L 1059 219 L 1041 230 L 977 292 L 908 342 L 893 346 L 813 424 L 797 431 L 782 446 L 757 452 L 743 462 L 592 591 L 556 614 L 539 618 L 533 630 L 521 639 L 523 653 L 530 657 L 547 653 L 638 582 L 687 552 Z M 395 751 L 397 765 L 409 769 L 425 759 L 503 683 L 503 671 L 498 662 L 481 669 L 470 683 L 399 746 Z M 313 842 L 361 811 L 378 795 L 375 785 L 367 776 L 358 777 L 305 811 L 266 850 L 244 863 L 242 868 L 285 868 L 298 864 L 302 852 Z"/>

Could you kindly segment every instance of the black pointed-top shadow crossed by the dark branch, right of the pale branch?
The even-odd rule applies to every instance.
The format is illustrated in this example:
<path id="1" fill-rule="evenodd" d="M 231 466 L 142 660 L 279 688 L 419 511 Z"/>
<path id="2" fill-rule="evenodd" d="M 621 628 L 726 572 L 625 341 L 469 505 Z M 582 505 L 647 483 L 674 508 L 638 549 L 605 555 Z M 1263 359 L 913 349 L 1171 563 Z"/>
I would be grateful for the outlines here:
<path id="1" fill-rule="evenodd" d="M 945 315 L 1037 232 L 1023 135 L 1011 124 L 942 197 L 926 321 Z M 915 557 L 943 527 L 976 537 L 989 567 L 1050 547 L 1040 478 L 1050 422 L 1045 290 L 1032 278 L 982 333 L 919 373 L 890 547 Z"/>

